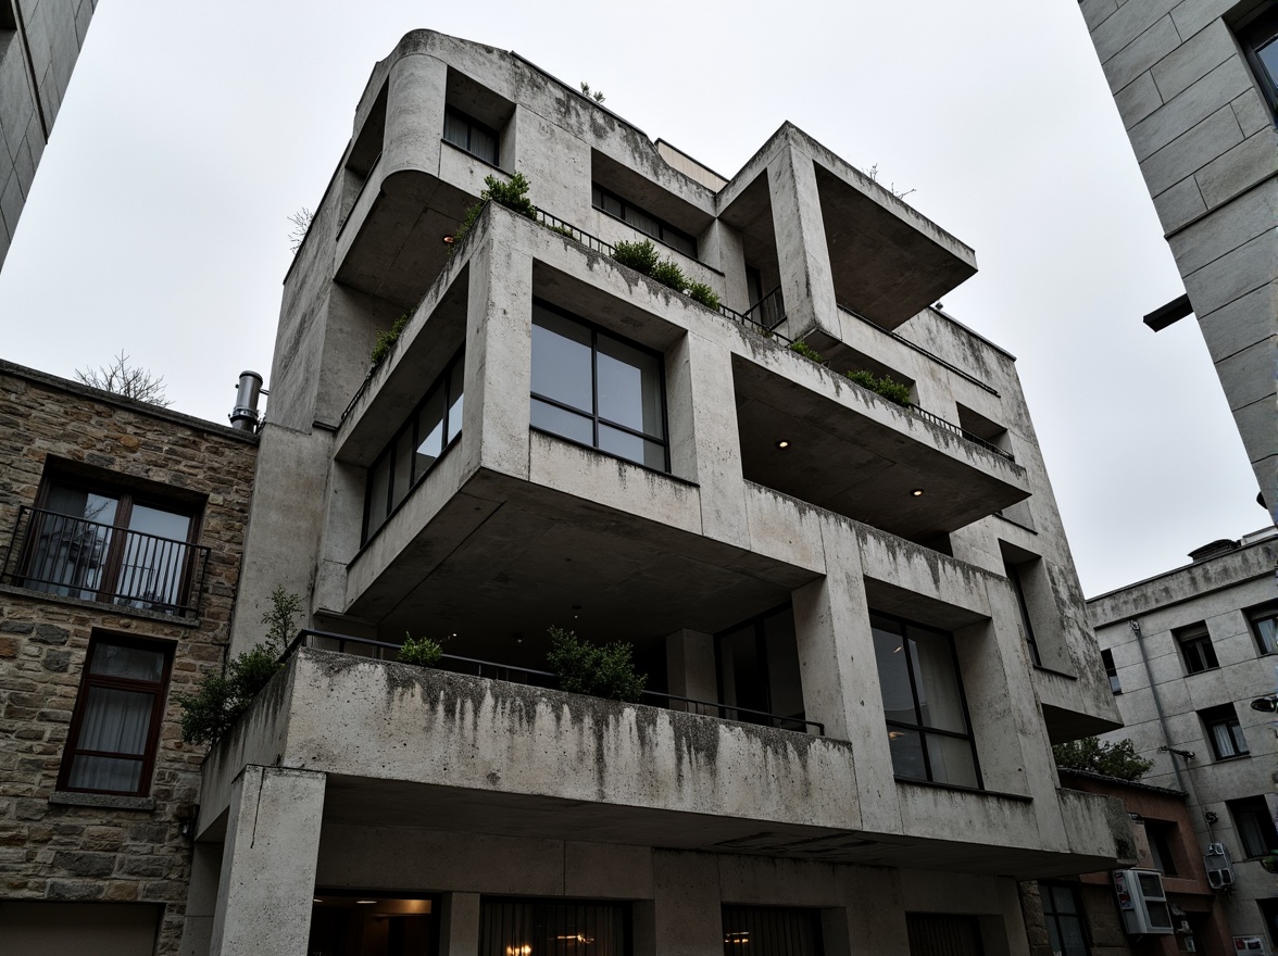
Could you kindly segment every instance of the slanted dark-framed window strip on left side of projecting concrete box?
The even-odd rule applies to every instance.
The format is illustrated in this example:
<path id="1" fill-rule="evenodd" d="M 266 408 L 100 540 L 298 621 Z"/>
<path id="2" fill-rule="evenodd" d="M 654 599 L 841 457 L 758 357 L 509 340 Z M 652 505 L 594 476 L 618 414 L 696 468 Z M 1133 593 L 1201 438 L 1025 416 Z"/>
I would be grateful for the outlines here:
<path id="1" fill-rule="evenodd" d="M 368 469 L 364 541 L 461 437 L 464 358 L 460 351 L 452 358 Z"/>

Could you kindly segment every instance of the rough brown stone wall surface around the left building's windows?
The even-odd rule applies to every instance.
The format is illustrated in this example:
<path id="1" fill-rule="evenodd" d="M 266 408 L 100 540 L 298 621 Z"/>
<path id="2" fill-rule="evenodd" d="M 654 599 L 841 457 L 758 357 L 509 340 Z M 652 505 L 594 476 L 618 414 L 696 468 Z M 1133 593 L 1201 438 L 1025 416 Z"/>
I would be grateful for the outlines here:
<path id="1" fill-rule="evenodd" d="M 174 694 L 221 666 L 257 440 L 0 363 L 0 557 L 51 455 L 206 497 L 211 555 L 198 621 L 0 584 L 0 897 L 164 904 L 156 952 L 176 952 L 203 749 L 183 745 Z M 175 642 L 150 801 L 50 800 L 95 629 Z"/>

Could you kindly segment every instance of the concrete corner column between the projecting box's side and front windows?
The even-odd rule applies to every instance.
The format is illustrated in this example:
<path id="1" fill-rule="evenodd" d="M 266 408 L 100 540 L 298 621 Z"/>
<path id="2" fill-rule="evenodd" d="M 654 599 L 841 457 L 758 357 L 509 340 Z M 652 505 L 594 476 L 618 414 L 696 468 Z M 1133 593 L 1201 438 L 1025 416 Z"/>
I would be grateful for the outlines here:
<path id="1" fill-rule="evenodd" d="M 474 464 L 527 479 L 533 261 L 502 242 L 505 210 L 486 215 L 492 242 L 470 259 L 461 443 Z"/>

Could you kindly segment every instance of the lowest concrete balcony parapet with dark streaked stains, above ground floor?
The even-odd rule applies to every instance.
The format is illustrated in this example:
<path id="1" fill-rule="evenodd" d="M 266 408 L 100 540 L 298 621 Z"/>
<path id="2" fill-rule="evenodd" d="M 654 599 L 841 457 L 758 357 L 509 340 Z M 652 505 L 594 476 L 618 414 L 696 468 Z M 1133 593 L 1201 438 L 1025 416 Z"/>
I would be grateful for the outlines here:
<path id="1" fill-rule="evenodd" d="M 325 775 L 326 824 L 1020 878 L 1123 855 L 1116 801 L 1066 791 L 1040 808 L 901 783 L 882 795 L 901 800 L 897 824 L 868 827 L 858 757 L 842 740 L 302 648 L 206 759 L 197 838 L 221 838 L 245 767 L 273 766 Z"/>

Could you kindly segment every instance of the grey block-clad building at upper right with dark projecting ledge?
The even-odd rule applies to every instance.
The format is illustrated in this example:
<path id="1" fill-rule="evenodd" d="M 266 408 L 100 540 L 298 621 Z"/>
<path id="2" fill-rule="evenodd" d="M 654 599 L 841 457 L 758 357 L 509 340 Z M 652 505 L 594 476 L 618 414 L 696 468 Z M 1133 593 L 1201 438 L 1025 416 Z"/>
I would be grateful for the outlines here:
<path id="1" fill-rule="evenodd" d="M 1278 3 L 1080 0 L 1187 299 L 1278 515 Z"/>

